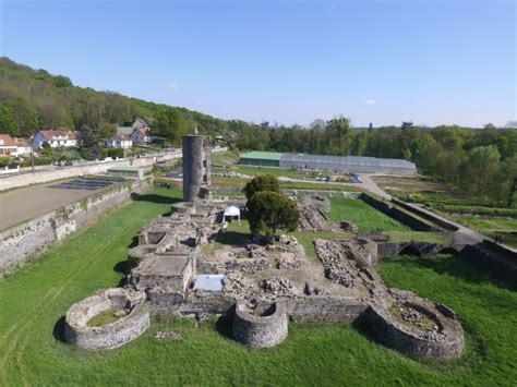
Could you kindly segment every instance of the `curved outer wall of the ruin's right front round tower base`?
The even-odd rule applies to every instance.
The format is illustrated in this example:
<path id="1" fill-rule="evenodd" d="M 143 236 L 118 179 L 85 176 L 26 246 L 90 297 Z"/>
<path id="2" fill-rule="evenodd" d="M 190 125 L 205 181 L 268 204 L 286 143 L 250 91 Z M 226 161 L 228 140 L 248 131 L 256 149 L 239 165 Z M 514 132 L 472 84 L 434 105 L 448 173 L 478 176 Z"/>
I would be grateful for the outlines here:
<path id="1" fill-rule="evenodd" d="M 372 304 L 361 316 L 373 336 L 386 347 L 412 358 L 434 361 L 456 359 L 464 349 L 464 330 L 447 306 L 410 295 L 406 302 L 435 321 L 437 331 L 410 329 L 398 322 L 386 309 Z"/>

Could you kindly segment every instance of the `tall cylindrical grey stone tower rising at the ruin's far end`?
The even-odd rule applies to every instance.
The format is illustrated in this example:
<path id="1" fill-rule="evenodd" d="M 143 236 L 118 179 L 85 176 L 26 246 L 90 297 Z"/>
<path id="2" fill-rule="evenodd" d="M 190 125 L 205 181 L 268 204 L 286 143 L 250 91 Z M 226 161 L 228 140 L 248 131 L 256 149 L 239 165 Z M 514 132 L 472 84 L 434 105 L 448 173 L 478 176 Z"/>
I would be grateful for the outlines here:
<path id="1" fill-rule="evenodd" d="M 207 135 L 190 134 L 183 140 L 183 201 L 207 197 L 211 185 L 212 148 Z"/>

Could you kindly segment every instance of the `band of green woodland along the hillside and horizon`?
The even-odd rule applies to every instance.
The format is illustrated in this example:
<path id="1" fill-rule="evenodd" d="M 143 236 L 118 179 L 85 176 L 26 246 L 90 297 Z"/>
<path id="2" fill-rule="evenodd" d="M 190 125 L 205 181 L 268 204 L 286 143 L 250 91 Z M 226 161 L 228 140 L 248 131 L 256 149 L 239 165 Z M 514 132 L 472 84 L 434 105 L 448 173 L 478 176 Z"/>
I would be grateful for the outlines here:
<path id="1" fill-rule="evenodd" d="M 416 162 L 420 172 L 443 179 L 483 203 L 514 206 L 516 202 L 515 122 L 508 128 L 486 124 L 483 129 L 402 122 L 358 130 L 342 116 L 315 120 L 308 128 L 220 120 L 115 92 L 77 87 L 67 76 L 0 58 L 0 133 L 31 136 L 39 129 L 65 126 L 87 132 L 93 143 L 110 137 L 117 125 L 136 117 L 153 118 L 153 132 L 166 146 L 179 145 L 181 135 L 197 128 L 240 150 L 405 158 Z"/>

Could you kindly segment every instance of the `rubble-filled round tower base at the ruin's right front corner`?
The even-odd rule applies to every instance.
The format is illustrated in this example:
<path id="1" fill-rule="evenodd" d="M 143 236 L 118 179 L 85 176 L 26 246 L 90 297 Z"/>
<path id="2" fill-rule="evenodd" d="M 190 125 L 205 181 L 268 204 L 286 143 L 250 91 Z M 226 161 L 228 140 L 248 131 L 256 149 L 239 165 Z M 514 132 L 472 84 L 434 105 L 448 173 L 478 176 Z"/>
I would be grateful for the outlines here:
<path id="1" fill-rule="evenodd" d="M 371 305 L 365 312 L 378 341 L 419 359 L 445 361 L 461 354 L 464 330 L 452 310 L 409 292 L 398 295 L 388 307 Z"/>

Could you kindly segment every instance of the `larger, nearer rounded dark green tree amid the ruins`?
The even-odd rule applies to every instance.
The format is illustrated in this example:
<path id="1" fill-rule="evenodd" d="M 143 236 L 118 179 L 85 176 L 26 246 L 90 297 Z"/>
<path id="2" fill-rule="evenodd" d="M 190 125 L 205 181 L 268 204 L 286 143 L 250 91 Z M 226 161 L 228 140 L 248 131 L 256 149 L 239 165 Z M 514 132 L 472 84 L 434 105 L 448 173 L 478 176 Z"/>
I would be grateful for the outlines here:
<path id="1" fill-rule="evenodd" d="M 299 218 L 294 202 L 278 192 L 257 192 L 248 202 L 248 220 L 254 235 L 273 237 L 277 230 L 294 231 Z"/>

